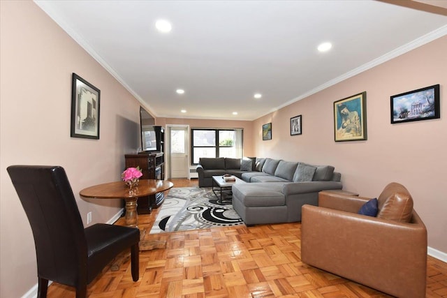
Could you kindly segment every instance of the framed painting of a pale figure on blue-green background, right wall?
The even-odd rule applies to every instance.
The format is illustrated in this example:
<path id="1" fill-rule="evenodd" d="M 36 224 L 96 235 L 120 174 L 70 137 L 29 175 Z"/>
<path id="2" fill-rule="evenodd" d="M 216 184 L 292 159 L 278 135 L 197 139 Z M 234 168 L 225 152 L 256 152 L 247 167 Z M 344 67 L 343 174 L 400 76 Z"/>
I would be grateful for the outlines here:
<path id="1" fill-rule="evenodd" d="M 366 91 L 334 102 L 335 142 L 367 140 Z"/>

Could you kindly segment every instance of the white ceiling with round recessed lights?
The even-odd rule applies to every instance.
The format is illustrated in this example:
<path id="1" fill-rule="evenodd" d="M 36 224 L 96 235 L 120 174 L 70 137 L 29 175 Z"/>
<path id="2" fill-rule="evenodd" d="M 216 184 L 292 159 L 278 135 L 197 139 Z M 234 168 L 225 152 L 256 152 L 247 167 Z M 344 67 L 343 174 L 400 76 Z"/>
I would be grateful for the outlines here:
<path id="1" fill-rule="evenodd" d="M 418 4 L 436 8 L 427 2 L 441 7 L 427 13 L 386 0 L 36 1 L 155 117 L 240 120 L 446 35 L 446 1 Z M 172 31 L 157 31 L 158 19 L 169 20 Z M 332 49 L 318 52 L 323 42 Z"/>

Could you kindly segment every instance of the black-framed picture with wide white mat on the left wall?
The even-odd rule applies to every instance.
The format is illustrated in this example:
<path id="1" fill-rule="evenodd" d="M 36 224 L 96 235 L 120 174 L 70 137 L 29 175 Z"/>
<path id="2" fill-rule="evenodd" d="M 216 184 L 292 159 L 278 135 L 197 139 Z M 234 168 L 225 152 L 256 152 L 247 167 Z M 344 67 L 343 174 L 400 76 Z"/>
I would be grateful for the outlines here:
<path id="1" fill-rule="evenodd" d="M 71 84 L 71 137 L 99 140 L 101 91 L 73 73 Z"/>

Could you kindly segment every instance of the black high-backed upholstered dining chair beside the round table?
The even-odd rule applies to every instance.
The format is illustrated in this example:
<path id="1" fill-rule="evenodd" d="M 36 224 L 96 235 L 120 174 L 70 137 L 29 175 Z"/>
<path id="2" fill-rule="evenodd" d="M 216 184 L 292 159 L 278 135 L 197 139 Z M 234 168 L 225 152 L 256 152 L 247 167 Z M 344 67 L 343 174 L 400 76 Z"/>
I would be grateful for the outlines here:
<path id="1" fill-rule="evenodd" d="M 138 281 L 138 229 L 103 223 L 84 228 L 62 167 L 12 165 L 8 173 L 34 235 L 38 297 L 46 297 L 48 281 L 75 287 L 77 298 L 86 297 L 87 285 L 126 248 Z"/>

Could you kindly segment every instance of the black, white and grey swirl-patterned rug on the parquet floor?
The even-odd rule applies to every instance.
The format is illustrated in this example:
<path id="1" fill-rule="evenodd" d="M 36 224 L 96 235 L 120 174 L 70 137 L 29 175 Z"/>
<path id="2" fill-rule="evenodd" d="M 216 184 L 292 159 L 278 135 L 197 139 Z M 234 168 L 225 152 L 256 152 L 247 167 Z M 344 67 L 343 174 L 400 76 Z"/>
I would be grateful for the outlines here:
<path id="1" fill-rule="evenodd" d="M 244 225 L 231 200 L 217 200 L 212 188 L 171 188 L 149 234 Z"/>

